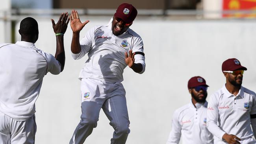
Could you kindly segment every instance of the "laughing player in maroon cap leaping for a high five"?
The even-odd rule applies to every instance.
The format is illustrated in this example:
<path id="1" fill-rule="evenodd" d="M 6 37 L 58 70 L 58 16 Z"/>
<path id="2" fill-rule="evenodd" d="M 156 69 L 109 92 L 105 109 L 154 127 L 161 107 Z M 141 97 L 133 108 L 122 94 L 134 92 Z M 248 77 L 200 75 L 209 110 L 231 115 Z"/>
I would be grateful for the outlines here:
<path id="1" fill-rule="evenodd" d="M 109 24 L 95 26 L 79 41 L 82 23 L 77 11 L 72 11 L 73 31 L 71 52 L 74 59 L 88 53 L 89 59 L 80 72 L 82 115 L 70 144 L 82 144 L 97 126 L 100 109 L 115 130 L 111 144 L 125 144 L 129 129 L 125 90 L 122 85 L 124 68 L 145 71 L 145 57 L 141 37 L 131 30 L 137 10 L 131 4 L 121 4 Z"/>

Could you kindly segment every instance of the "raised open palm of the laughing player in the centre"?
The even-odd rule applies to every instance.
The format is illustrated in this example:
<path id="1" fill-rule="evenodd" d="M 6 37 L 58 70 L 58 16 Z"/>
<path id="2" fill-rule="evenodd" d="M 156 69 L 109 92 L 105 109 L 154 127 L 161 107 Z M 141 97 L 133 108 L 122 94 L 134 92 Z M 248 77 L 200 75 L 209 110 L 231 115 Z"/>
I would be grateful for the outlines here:
<path id="1" fill-rule="evenodd" d="M 85 22 L 82 23 L 80 21 L 77 11 L 75 11 L 74 9 L 72 10 L 70 15 L 70 26 L 73 32 L 80 32 L 85 26 L 85 24 L 87 24 L 88 22 L 89 20 L 86 20 Z"/>

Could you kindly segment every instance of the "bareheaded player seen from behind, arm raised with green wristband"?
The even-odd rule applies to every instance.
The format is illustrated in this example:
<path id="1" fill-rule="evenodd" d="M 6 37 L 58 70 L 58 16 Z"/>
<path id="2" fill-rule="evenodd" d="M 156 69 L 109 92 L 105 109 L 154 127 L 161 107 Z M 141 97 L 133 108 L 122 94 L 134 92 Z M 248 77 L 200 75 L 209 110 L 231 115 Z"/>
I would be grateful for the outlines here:
<path id="1" fill-rule="evenodd" d="M 55 57 L 35 48 L 39 31 L 31 17 L 20 22 L 21 41 L 0 44 L 0 144 L 35 143 L 35 101 L 47 72 L 59 74 L 64 68 L 63 34 L 68 23 L 67 13 L 57 24 L 52 19 Z"/>

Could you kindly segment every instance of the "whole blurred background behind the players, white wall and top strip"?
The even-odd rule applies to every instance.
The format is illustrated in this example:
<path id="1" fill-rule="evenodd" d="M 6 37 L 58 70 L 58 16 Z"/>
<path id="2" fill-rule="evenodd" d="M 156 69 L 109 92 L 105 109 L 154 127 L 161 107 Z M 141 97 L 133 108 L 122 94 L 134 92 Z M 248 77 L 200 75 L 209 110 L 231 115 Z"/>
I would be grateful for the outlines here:
<path id="1" fill-rule="evenodd" d="M 138 9 L 130 27 L 141 35 L 146 72 L 124 70 L 124 87 L 131 133 L 127 144 L 165 144 L 171 131 L 173 111 L 190 100 L 187 81 L 202 76 L 208 98 L 221 88 L 225 78 L 221 64 L 232 57 L 248 70 L 243 86 L 256 91 L 256 0 L 4 0 L 0 5 L 0 43 L 20 41 L 19 23 L 33 17 L 39 24 L 37 48 L 55 54 L 56 38 L 50 18 L 78 10 L 82 21 L 90 20 L 81 38 L 95 25 L 106 24 L 119 4 Z M 37 144 L 67 144 L 80 120 L 78 74 L 87 59 L 70 55 L 72 30 L 64 36 L 64 71 L 44 78 L 36 102 Z M 4 81 L 1 81 L 4 82 Z M 87 144 L 109 144 L 113 129 L 103 112 Z M 182 142 L 180 142 L 182 143 Z"/>

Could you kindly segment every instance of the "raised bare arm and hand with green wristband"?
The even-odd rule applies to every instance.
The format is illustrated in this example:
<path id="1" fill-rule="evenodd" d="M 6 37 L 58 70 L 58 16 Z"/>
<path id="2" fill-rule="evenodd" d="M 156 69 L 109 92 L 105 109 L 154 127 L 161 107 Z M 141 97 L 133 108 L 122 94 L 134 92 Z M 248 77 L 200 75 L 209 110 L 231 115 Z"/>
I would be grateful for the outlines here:
<path id="1" fill-rule="evenodd" d="M 59 17 L 57 24 L 52 20 L 52 28 L 54 33 L 65 33 L 67 30 L 67 25 L 69 24 L 69 15 L 68 13 L 62 13 Z M 64 69 L 65 65 L 65 50 L 64 50 L 64 35 L 56 35 L 56 53 L 55 58 L 59 61 L 61 66 L 61 72 Z"/>

